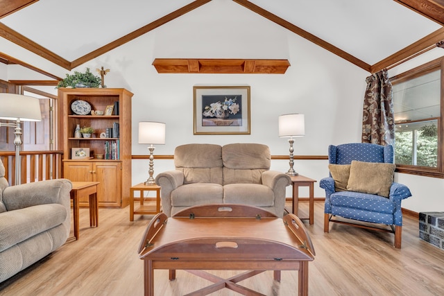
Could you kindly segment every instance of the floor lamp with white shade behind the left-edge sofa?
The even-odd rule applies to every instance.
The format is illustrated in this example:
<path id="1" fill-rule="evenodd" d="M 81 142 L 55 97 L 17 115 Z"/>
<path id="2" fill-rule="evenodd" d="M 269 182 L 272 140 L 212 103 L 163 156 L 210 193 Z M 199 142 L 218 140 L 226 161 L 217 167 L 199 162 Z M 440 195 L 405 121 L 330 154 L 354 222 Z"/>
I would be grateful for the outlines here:
<path id="1" fill-rule="evenodd" d="M 22 167 L 20 166 L 20 150 L 22 147 L 22 121 L 41 121 L 40 102 L 38 98 L 21 94 L 0 94 L 0 119 L 15 121 L 0 123 L 0 126 L 15 129 L 15 185 L 20 184 Z"/>

